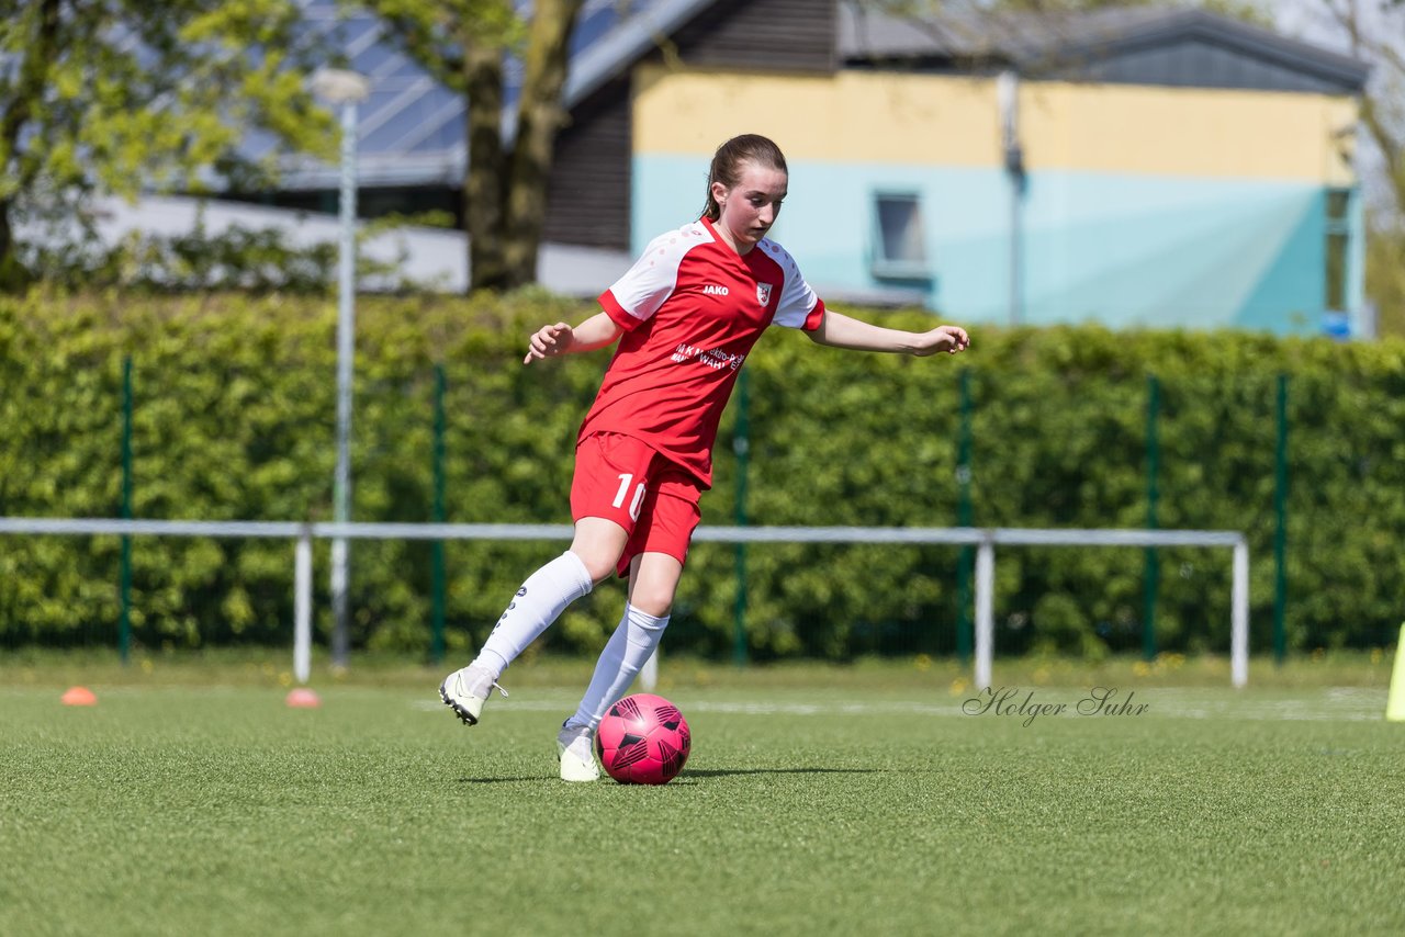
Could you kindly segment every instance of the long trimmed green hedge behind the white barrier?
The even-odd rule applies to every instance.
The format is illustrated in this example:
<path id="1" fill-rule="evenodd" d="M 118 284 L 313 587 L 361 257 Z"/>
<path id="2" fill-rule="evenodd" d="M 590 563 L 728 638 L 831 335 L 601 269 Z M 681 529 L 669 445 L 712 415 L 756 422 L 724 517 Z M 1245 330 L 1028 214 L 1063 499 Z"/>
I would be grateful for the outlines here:
<path id="1" fill-rule="evenodd" d="M 575 433 L 607 353 L 521 367 L 524 336 L 590 305 L 362 298 L 355 520 L 426 521 L 434 365 L 448 378 L 448 520 L 569 523 Z M 922 313 L 857 312 L 908 327 Z M 327 520 L 334 462 L 333 302 L 287 296 L 0 299 L 0 516 L 115 517 L 121 372 L 135 367 L 135 516 Z M 1253 646 L 1273 621 L 1274 395 L 1290 375 L 1290 648 L 1394 639 L 1405 596 L 1405 344 L 1099 327 L 975 329 L 961 358 L 821 348 L 777 329 L 753 353 L 753 524 L 954 525 L 958 374 L 971 369 L 979 525 L 1142 527 L 1148 374 L 1161 384 L 1159 525 L 1243 530 Z M 704 523 L 733 517 L 732 413 Z M 450 648 L 461 656 L 562 544 L 450 544 Z M 111 643 L 118 539 L 0 539 L 0 643 Z M 998 650 L 1141 648 L 1142 549 L 1003 548 Z M 257 539 L 133 541 L 145 646 L 287 643 L 292 549 Z M 1228 646 L 1228 551 L 1162 549 L 1158 643 Z M 429 646 L 430 546 L 357 542 L 357 646 Z M 750 546 L 754 657 L 957 646 L 954 546 Z M 318 628 L 330 628 L 326 545 Z M 618 589 L 573 605 L 545 646 L 596 649 Z M 670 650 L 725 656 L 735 548 L 694 546 Z"/>

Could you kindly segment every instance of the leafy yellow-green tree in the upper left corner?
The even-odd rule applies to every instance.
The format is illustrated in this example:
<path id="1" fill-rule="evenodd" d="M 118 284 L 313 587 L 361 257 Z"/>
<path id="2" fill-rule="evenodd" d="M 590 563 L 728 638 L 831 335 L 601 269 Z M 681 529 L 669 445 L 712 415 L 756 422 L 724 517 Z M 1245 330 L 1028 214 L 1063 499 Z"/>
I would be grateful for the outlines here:
<path id="1" fill-rule="evenodd" d="M 0 289 L 30 280 L 17 229 L 91 228 L 94 194 L 266 180 L 250 131 L 336 153 L 306 90 L 296 0 L 0 0 Z M 69 229 L 72 230 L 72 228 Z"/>

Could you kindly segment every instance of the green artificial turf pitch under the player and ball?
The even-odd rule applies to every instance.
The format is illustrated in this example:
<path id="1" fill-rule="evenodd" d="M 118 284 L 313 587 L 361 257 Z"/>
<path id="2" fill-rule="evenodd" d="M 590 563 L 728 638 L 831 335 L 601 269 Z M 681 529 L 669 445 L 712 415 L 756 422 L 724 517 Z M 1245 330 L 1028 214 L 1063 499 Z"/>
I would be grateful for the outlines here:
<path id="1" fill-rule="evenodd" d="M 940 666 L 676 662 L 693 756 L 641 788 L 555 778 L 579 664 L 514 667 L 472 729 L 437 670 L 319 677 L 294 709 L 247 662 L 94 667 L 76 708 L 66 667 L 0 666 L 10 936 L 1405 933 L 1375 677 L 1128 664 L 1103 709 L 1131 705 L 1079 715 L 1094 684 L 1031 664 L 984 707 Z"/>

